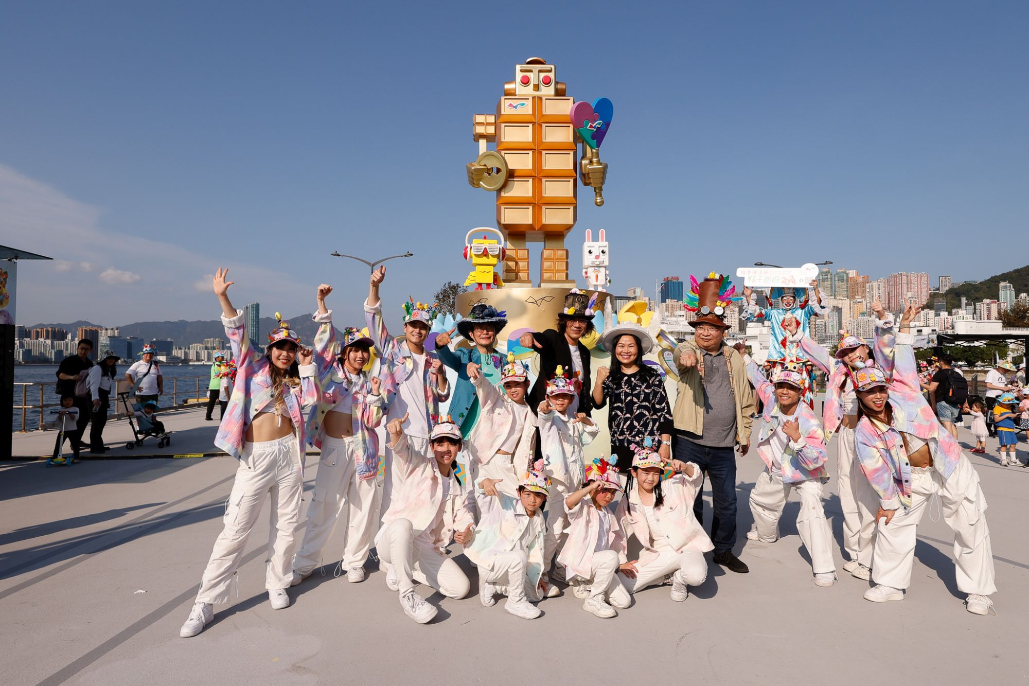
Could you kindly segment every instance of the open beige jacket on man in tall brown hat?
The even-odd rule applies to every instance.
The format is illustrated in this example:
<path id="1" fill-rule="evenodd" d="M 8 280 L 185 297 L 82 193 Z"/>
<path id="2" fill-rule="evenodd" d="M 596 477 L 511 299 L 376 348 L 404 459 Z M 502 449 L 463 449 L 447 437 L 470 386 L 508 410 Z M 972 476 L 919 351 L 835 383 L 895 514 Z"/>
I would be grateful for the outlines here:
<path id="1" fill-rule="evenodd" d="M 678 392 L 675 399 L 675 409 L 672 411 L 672 419 L 675 421 L 675 428 L 680 432 L 690 434 L 704 434 L 704 383 L 703 376 L 697 368 L 684 369 L 679 365 L 679 357 L 686 350 L 691 351 L 700 359 L 703 351 L 700 346 L 690 339 L 679 343 L 675 348 L 675 364 L 679 372 Z M 750 427 L 753 423 L 753 415 L 757 411 L 754 403 L 754 389 L 750 387 L 747 380 L 747 366 L 743 363 L 743 355 L 737 352 L 736 348 L 722 344 L 722 355 L 729 357 L 730 381 L 733 386 L 733 396 L 736 398 L 736 442 L 740 445 L 750 443 Z M 720 359 L 718 364 L 724 364 Z"/>

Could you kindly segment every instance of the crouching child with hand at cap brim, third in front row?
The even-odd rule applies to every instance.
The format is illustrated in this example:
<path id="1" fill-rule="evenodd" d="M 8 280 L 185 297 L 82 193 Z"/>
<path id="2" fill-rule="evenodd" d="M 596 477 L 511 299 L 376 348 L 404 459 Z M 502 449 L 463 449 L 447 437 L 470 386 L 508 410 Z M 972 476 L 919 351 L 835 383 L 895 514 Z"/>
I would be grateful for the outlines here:
<path id="1" fill-rule="evenodd" d="M 606 459 L 598 457 L 586 469 L 586 483 L 564 499 L 571 522 L 568 541 L 558 555 L 558 562 L 565 567 L 568 581 L 589 586 L 589 596 L 582 609 L 597 617 L 617 616 L 614 608 L 628 608 L 632 596 L 622 585 L 617 550 L 624 548 L 618 541 L 622 529 L 608 506 L 614 493 L 622 489 L 618 470 L 614 464 L 617 455 Z M 622 569 L 631 567 L 631 562 Z M 614 607 L 611 607 L 614 606 Z"/>

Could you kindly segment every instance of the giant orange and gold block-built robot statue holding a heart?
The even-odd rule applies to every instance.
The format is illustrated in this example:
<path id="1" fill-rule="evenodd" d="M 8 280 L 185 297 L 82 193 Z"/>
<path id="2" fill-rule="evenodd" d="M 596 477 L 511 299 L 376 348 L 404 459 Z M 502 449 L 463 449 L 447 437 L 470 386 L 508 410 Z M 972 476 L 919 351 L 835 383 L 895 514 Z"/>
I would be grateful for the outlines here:
<path id="1" fill-rule="evenodd" d="M 574 286 L 568 278 L 565 236 L 575 226 L 576 174 L 603 204 L 607 165 L 583 142 L 569 115 L 573 99 L 557 80 L 554 65 L 530 58 L 504 83 L 496 114 L 475 114 L 473 138 L 478 158 L 467 165 L 468 183 L 497 194 L 497 226 L 508 237 L 504 279 L 532 285 L 527 240 L 543 242 L 541 286 Z M 487 148 L 496 142 L 496 149 Z"/>

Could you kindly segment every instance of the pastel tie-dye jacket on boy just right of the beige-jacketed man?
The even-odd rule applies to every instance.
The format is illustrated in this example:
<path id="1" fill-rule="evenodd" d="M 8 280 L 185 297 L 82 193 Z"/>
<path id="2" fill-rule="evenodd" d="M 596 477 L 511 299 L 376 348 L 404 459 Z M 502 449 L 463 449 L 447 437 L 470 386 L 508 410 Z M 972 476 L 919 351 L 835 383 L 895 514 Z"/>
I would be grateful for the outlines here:
<path id="1" fill-rule="evenodd" d="M 775 384 L 768 380 L 753 359 L 746 357 L 747 378 L 754 384 L 757 397 L 765 404 L 761 415 L 761 425 L 757 430 L 757 454 L 771 470 L 774 462 L 772 455 L 772 435 L 784 421 L 796 420 L 800 424 L 801 440 L 788 441 L 786 452 L 779 456 L 782 461 L 783 483 L 800 483 L 818 479 L 822 483 L 829 480 L 825 470 L 825 461 L 829 458 L 825 450 L 825 436 L 822 425 L 815 416 L 815 411 L 805 403 L 797 403 L 791 417 L 783 417 L 779 412 L 779 402 L 775 397 Z"/>

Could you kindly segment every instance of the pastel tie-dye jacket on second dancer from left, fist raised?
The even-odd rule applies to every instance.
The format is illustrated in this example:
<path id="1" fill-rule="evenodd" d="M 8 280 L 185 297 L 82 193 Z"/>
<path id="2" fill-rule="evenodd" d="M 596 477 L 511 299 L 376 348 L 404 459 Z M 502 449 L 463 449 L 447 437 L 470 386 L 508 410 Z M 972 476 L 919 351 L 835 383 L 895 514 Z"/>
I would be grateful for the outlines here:
<path id="1" fill-rule="evenodd" d="M 308 413 L 308 436 L 317 447 L 321 447 L 325 437 L 325 413 L 331 410 L 344 398 L 351 393 L 354 436 L 354 460 L 357 465 L 357 478 L 361 480 L 375 479 L 379 474 L 379 436 L 376 427 L 382 423 L 383 408 L 386 402 L 382 393 L 387 393 L 386 382 L 380 387 L 380 395 L 371 395 L 371 383 L 367 373 L 352 379 L 341 368 L 336 359 L 335 327 L 332 325 L 332 312 L 318 314 L 312 317 L 318 322 L 318 333 L 315 334 L 315 365 L 318 368 L 318 403 Z M 380 377 L 382 378 L 382 377 Z"/>

